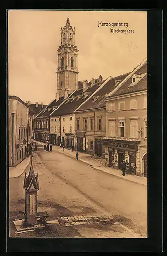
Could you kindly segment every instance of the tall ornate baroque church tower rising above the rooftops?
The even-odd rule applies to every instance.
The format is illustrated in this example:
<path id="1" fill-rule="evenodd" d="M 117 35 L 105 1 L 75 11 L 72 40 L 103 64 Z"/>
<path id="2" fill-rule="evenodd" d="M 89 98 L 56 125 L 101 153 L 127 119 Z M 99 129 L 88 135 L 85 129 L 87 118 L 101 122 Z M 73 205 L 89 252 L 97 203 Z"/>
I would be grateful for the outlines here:
<path id="1" fill-rule="evenodd" d="M 78 89 L 77 46 L 75 46 L 75 27 L 66 25 L 61 28 L 61 42 L 58 48 L 57 95 L 56 98 L 72 93 Z"/>

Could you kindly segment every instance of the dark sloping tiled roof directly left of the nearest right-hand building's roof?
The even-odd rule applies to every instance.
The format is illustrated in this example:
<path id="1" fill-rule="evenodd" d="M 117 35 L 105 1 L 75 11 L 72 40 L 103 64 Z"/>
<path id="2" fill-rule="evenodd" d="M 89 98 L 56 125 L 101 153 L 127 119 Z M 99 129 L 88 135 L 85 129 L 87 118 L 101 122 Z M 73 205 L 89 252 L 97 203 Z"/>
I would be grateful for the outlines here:
<path id="1" fill-rule="evenodd" d="M 126 73 L 109 80 L 106 84 L 104 84 L 104 86 L 97 93 L 94 94 L 92 98 L 90 98 L 84 105 L 82 105 L 81 108 L 78 109 L 78 111 L 105 107 L 106 106 L 105 94 L 111 92 L 115 88 L 115 84 L 114 84 L 115 80 L 118 79 L 121 82 L 121 80 L 123 80 L 129 74 L 130 73 Z M 96 101 L 93 101 L 94 97 L 98 97 L 98 96 L 99 98 Z"/>

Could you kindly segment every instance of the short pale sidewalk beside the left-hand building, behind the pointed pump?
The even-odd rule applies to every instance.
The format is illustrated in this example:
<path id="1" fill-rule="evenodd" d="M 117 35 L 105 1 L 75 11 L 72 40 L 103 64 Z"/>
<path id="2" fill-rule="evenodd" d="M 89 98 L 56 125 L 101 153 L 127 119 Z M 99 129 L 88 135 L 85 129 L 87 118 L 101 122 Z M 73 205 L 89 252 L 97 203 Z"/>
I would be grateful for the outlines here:
<path id="1" fill-rule="evenodd" d="M 25 158 L 21 163 L 15 167 L 9 167 L 9 178 L 19 177 L 30 163 L 30 156 Z"/>

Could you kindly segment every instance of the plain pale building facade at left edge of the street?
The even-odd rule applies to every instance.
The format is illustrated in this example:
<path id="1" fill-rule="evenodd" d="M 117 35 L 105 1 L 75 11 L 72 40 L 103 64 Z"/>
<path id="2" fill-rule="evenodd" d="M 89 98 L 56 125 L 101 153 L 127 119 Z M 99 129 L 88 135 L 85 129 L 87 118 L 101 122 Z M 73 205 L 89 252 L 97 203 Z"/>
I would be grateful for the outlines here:
<path id="1" fill-rule="evenodd" d="M 27 157 L 31 115 L 27 104 L 17 96 L 8 97 L 8 106 L 9 166 L 16 166 Z"/>

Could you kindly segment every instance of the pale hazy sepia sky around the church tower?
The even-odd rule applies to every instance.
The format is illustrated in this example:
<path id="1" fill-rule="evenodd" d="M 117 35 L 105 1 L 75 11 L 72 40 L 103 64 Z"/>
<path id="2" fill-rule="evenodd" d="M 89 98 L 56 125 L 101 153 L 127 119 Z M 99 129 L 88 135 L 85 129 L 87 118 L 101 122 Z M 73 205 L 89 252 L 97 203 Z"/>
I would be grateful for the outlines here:
<path id="1" fill-rule="evenodd" d="M 75 27 L 78 80 L 103 79 L 132 71 L 147 57 L 145 11 L 8 11 L 8 92 L 31 103 L 48 104 L 57 88 L 60 29 Z M 101 23 L 128 23 L 134 33 L 112 33 Z M 102 24 L 101 23 L 101 24 Z M 109 25 L 109 24 L 108 24 Z"/>

